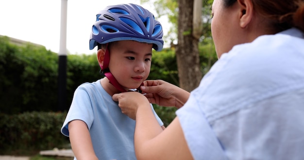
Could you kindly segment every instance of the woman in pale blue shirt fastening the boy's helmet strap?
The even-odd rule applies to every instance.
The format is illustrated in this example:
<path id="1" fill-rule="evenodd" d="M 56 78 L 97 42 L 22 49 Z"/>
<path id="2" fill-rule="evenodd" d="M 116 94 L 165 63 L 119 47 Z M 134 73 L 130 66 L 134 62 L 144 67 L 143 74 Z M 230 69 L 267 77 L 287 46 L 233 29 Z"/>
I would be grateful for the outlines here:
<path id="1" fill-rule="evenodd" d="M 135 154 L 157 160 L 304 159 L 304 0 L 214 0 L 219 60 L 191 92 L 149 80 L 113 96 L 136 120 Z M 162 130 L 149 106 L 175 106 Z"/>

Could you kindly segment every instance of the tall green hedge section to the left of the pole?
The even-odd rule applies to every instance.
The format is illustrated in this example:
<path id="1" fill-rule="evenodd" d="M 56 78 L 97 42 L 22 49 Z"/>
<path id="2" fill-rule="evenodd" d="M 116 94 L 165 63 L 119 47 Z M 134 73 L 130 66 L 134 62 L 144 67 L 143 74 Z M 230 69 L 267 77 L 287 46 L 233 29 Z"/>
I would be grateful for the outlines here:
<path id="1" fill-rule="evenodd" d="M 0 37 L 0 112 L 51 111 L 57 104 L 57 58 L 44 47 Z"/>

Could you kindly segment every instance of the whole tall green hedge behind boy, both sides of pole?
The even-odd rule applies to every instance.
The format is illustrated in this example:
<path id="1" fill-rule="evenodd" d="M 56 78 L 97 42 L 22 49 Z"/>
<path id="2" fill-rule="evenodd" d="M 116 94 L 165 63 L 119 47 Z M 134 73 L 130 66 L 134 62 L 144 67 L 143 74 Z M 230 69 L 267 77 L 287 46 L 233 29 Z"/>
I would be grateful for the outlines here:
<path id="1" fill-rule="evenodd" d="M 101 79 L 96 54 L 68 55 L 67 110 L 75 89 Z M 149 79 L 178 84 L 174 52 L 153 53 Z M 58 111 L 58 54 L 31 44 L 17 46 L 0 37 L 0 112 Z"/>

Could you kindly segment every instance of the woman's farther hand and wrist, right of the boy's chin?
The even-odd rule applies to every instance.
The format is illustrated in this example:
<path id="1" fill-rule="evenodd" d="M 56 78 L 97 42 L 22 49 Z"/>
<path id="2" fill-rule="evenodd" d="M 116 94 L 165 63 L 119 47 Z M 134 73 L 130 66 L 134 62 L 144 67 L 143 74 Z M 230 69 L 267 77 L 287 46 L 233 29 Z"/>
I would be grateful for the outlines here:
<path id="1" fill-rule="evenodd" d="M 150 103 L 160 106 L 181 108 L 189 98 L 190 93 L 164 80 L 146 80 L 140 89 L 146 93 Z"/>

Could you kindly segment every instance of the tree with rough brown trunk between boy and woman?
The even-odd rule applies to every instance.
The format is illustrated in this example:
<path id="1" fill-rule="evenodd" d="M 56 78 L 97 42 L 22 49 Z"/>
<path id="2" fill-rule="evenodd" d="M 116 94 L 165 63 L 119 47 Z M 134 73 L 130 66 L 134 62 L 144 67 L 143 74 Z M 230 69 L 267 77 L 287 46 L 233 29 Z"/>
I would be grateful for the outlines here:
<path id="1" fill-rule="evenodd" d="M 153 2 L 157 16 L 168 16 L 172 24 L 164 39 L 170 39 L 171 48 L 176 50 L 179 86 L 187 91 L 195 89 L 203 77 L 199 43 L 204 43 L 205 38 L 211 37 L 209 4 L 212 1 L 155 0 Z M 148 0 L 141 2 L 147 3 Z M 177 45 L 173 43 L 176 40 L 174 33 L 177 33 Z"/>

